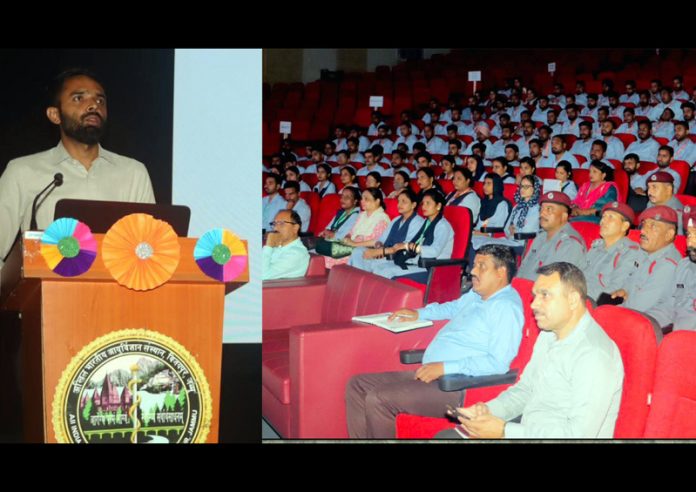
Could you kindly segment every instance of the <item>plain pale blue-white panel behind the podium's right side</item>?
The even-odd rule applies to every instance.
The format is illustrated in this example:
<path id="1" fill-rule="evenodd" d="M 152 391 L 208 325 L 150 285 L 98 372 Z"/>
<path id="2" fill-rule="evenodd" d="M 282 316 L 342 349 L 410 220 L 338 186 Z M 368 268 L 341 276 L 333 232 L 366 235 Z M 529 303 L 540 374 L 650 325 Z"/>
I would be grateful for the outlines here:
<path id="1" fill-rule="evenodd" d="M 249 283 L 225 298 L 224 342 L 261 342 L 261 50 L 181 50 L 174 61 L 173 202 L 190 237 L 248 240 Z"/>

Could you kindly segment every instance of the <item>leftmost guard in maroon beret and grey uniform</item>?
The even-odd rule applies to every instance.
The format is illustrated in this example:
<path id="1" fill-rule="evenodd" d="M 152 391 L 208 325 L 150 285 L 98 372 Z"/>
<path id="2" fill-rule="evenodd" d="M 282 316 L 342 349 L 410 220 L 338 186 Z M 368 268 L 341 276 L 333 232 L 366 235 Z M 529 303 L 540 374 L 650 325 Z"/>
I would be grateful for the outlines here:
<path id="1" fill-rule="evenodd" d="M 568 195 L 560 191 L 544 193 L 539 205 L 539 225 L 543 231 L 534 239 L 517 276 L 536 280 L 537 268 L 557 261 L 584 268 L 585 240 L 568 223 L 571 208 Z"/>

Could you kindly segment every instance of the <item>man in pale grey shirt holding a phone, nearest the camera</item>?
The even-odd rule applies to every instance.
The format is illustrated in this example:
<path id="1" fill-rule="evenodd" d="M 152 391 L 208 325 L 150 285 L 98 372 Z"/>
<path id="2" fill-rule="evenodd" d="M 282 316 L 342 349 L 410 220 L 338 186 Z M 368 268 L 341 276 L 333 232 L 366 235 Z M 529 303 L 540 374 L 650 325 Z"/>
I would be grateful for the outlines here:
<path id="1" fill-rule="evenodd" d="M 619 349 L 587 311 L 580 269 L 559 262 L 538 273 L 532 310 L 543 331 L 522 377 L 488 403 L 459 409 L 461 426 L 437 437 L 613 437 L 624 376 Z"/>

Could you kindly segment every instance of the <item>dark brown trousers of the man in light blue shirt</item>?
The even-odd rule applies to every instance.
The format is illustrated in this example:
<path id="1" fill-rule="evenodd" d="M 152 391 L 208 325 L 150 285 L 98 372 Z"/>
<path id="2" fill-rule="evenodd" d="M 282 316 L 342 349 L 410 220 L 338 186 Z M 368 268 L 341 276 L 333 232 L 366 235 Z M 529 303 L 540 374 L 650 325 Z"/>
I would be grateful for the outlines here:
<path id="1" fill-rule="evenodd" d="M 393 439 L 400 413 L 445 417 L 447 405 L 461 406 L 463 391 L 441 391 L 437 381 L 415 379 L 415 371 L 360 374 L 346 386 L 348 435 L 354 439 Z"/>

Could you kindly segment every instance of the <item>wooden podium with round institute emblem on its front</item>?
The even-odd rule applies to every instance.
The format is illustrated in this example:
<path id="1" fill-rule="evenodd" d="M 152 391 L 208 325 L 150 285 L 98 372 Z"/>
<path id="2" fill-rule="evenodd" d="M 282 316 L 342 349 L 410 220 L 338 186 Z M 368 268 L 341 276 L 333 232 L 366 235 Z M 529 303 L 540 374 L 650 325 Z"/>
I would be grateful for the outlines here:
<path id="1" fill-rule="evenodd" d="M 177 442 L 217 442 L 224 297 L 249 281 L 248 264 L 234 282 L 221 283 L 206 276 L 196 264 L 196 239 L 179 238 L 180 260 L 172 278 L 155 289 L 135 291 L 119 285 L 104 266 L 100 254 L 103 237 L 94 235 L 97 257 L 91 268 L 77 277 L 65 278 L 51 271 L 37 239 L 19 240 L 2 270 L 0 309 L 21 315 L 24 440 L 133 442 L 135 435 L 137 442 L 171 442 L 190 431 L 188 441 Z M 148 340 L 110 340 L 124 330 L 160 338 L 152 342 L 155 345 Z M 167 345 L 170 340 L 173 346 Z M 79 354 L 81 360 L 76 357 Z M 152 362 L 155 354 L 163 357 L 161 363 Z M 94 386 L 98 377 L 103 377 L 100 370 L 107 371 L 107 364 L 125 364 L 122 361 L 161 370 L 143 376 L 143 367 L 138 364 L 130 369 L 120 367 L 115 375 L 106 372 L 102 385 Z M 134 371 L 132 377 L 128 370 Z M 88 389 L 89 384 L 94 387 Z M 67 396 L 56 401 L 60 391 Z M 56 429 L 56 415 L 70 413 L 59 407 L 78 397 L 76 413 L 84 416 L 85 426 L 94 427 L 78 429 L 66 420 L 63 431 L 60 425 Z M 157 402 L 152 404 L 158 409 L 156 413 L 142 410 L 148 399 Z M 136 400 L 142 401 L 137 408 L 133 407 Z M 136 424 L 126 424 L 124 415 L 131 407 L 135 408 L 140 432 L 133 430 Z M 182 421 L 184 431 L 180 432 Z M 68 439 L 59 438 L 61 433 Z"/>

